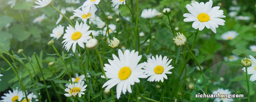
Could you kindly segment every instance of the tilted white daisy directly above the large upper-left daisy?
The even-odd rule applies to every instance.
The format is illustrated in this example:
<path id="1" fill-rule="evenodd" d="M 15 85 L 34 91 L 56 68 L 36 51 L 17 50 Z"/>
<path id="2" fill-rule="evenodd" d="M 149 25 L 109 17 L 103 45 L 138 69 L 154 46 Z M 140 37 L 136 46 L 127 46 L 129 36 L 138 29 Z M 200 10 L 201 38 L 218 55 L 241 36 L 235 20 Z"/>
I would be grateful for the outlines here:
<path id="1" fill-rule="evenodd" d="M 74 10 L 74 17 L 79 17 L 84 22 L 86 22 L 87 19 L 93 20 L 93 18 L 95 18 L 96 11 L 97 11 L 97 8 L 95 5 L 85 6 L 85 7 L 82 7 L 82 10 L 80 9 Z"/>

